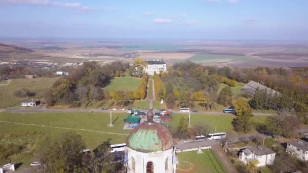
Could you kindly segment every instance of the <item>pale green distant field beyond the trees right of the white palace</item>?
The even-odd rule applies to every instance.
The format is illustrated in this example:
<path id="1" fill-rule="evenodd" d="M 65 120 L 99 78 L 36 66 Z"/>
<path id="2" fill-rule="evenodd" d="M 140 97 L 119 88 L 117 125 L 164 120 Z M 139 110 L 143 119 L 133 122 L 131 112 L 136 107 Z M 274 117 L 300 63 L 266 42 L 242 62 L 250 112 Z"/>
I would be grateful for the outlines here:
<path id="1" fill-rule="evenodd" d="M 215 55 L 215 54 L 197 54 L 193 57 L 175 61 L 177 63 L 191 61 L 197 64 L 206 63 L 219 63 L 219 62 L 234 62 L 234 61 L 254 61 L 249 56 L 238 56 L 238 55 Z"/>

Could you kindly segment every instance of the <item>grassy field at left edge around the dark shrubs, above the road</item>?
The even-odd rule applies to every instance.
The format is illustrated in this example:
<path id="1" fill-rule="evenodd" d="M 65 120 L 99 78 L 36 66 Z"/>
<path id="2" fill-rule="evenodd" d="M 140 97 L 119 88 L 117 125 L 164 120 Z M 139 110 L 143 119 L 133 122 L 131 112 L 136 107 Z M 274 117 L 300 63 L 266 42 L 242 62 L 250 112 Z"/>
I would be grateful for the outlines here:
<path id="1" fill-rule="evenodd" d="M 20 102 L 27 100 L 27 98 L 19 98 L 14 96 L 14 92 L 20 89 L 28 89 L 34 92 L 35 98 L 41 98 L 41 95 L 51 88 L 53 83 L 59 77 L 53 78 L 32 78 L 32 79 L 12 79 L 8 85 L 0 86 L 0 108 L 11 106 L 20 107 Z M 30 100 L 29 98 L 28 100 Z"/>

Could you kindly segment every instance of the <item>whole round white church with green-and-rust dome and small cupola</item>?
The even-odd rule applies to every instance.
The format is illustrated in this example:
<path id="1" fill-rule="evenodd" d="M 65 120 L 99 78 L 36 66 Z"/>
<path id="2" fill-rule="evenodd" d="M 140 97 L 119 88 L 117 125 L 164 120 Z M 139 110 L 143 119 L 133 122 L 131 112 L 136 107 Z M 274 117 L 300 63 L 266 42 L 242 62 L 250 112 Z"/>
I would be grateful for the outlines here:
<path id="1" fill-rule="evenodd" d="M 126 141 L 128 173 L 176 172 L 172 136 L 166 127 L 153 121 L 153 116 L 148 111 L 147 122 L 135 127 Z"/>

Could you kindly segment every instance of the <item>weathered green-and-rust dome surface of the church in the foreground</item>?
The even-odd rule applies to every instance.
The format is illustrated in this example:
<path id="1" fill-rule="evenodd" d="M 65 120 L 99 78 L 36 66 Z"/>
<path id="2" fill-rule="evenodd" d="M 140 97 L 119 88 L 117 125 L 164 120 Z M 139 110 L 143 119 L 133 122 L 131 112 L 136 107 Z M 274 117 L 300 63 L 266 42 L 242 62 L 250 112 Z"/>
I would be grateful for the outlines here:
<path id="1" fill-rule="evenodd" d="M 126 145 L 140 152 L 163 151 L 173 147 L 173 139 L 163 125 L 143 122 L 133 129 Z"/>

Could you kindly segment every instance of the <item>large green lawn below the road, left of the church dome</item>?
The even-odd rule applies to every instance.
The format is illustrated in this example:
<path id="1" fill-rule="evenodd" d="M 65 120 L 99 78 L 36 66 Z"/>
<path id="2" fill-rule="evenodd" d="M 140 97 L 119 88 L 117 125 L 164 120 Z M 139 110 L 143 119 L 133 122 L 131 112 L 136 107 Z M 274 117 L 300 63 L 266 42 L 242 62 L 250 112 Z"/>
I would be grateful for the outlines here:
<path id="1" fill-rule="evenodd" d="M 77 134 L 80 134 L 82 139 L 85 141 L 87 148 L 94 148 L 108 139 L 111 139 L 112 144 L 124 143 L 128 137 L 126 135 L 131 132 L 130 130 L 123 130 L 123 119 L 127 117 L 127 114 L 114 113 L 112 116 L 112 121 L 115 120 L 113 127 L 108 126 L 110 123 L 109 117 L 109 113 L 0 113 L 1 121 L 46 125 L 34 126 L 0 122 L 0 134 L 8 137 L 12 136 L 13 138 L 9 138 L 10 140 L 18 139 L 17 142 L 11 142 L 13 144 L 21 143 L 20 140 L 23 140 L 24 137 L 31 137 L 30 140 L 24 142 L 26 143 L 26 147 L 22 150 L 22 154 L 12 157 L 13 163 L 23 162 L 28 165 L 29 162 L 33 161 L 32 158 L 36 151 L 41 149 L 42 146 L 40 144 L 44 143 L 44 140 L 57 140 L 64 132 L 75 131 Z M 67 127 L 75 129 L 54 127 Z M 82 131 L 80 129 L 91 130 L 91 132 Z M 21 136 L 19 138 L 15 138 L 15 136 L 20 134 L 35 134 L 36 132 L 37 135 L 34 136 L 24 135 L 24 137 Z M 126 135 L 105 134 L 102 132 L 112 132 Z M 1 138 L 0 142 L 10 142 L 8 140 L 3 140 L 4 138 Z"/>

